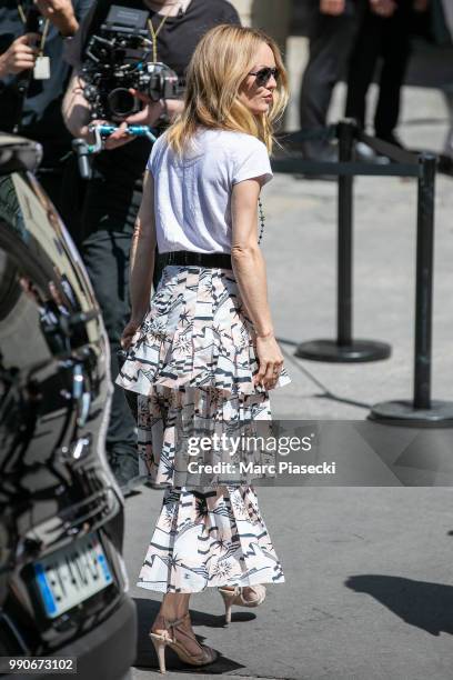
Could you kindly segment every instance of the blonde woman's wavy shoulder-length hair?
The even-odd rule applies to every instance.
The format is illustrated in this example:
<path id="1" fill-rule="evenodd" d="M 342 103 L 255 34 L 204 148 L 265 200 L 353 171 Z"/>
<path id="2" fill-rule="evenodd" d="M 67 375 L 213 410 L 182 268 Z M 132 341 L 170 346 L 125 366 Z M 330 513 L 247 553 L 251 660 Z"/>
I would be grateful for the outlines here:
<path id="1" fill-rule="evenodd" d="M 258 48 L 268 44 L 280 76 L 266 113 L 254 114 L 239 99 Z M 288 76 L 276 42 L 264 32 L 241 26 L 218 26 L 200 40 L 187 73 L 184 110 L 167 131 L 173 151 L 181 154 L 199 127 L 253 134 L 272 151 L 274 126 L 288 103 Z"/>

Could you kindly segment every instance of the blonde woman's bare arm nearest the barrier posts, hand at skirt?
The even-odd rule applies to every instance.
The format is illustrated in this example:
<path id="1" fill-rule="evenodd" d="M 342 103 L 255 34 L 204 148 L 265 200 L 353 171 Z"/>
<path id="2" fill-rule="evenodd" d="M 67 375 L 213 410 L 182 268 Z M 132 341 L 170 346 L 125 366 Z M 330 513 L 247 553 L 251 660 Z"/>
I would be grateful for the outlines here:
<path id="1" fill-rule="evenodd" d="M 265 389 L 274 386 L 275 371 L 283 366 L 283 357 L 275 341 L 268 302 L 265 263 L 258 246 L 259 178 L 234 184 L 231 198 L 233 223 L 231 259 L 242 301 L 256 333 L 260 363 L 255 383 Z"/>

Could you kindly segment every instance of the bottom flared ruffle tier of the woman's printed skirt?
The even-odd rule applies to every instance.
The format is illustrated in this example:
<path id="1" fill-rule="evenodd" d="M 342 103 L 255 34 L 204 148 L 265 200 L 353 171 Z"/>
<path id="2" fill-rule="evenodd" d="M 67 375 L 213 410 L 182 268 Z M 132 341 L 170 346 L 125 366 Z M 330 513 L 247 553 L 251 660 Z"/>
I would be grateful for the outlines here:
<path id="1" fill-rule="evenodd" d="M 253 489 L 165 490 L 137 586 L 200 592 L 207 587 L 282 582 Z"/>

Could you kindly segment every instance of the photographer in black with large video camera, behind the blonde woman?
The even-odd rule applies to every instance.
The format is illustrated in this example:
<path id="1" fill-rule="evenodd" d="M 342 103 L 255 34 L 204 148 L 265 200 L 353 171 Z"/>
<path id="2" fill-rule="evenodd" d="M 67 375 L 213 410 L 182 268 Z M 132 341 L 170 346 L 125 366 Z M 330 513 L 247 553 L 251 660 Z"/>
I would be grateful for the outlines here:
<path id="1" fill-rule="evenodd" d="M 152 60 L 165 63 L 181 81 L 200 38 L 217 24 L 240 22 L 236 11 L 225 0 L 119 0 L 118 4 L 149 12 L 148 38 L 152 43 Z M 90 141 L 88 124 L 91 113 L 83 93 L 81 67 L 87 41 L 98 34 L 109 9 L 110 3 L 98 2 L 67 52 L 74 72 L 63 102 L 64 120 L 74 137 Z M 143 94 L 139 97 L 143 101 L 142 110 L 122 121 L 111 121 L 119 124 L 119 130 L 105 140 L 104 150 L 93 157 L 92 179 L 81 210 L 82 233 L 78 234 L 103 312 L 113 377 L 119 372 L 117 351 L 121 347 L 120 337 L 130 318 L 129 253 L 141 202 L 143 172 L 151 150 L 151 142 L 145 138 L 134 139 L 128 134 L 127 124 L 148 124 L 159 133 L 182 108 L 182 101 L 175 99 L 151 102 Z M 118 386 L 114 386 L 107 447 L 113 472 L 125 491 L 133 486 L 133 478 L 138 474 L 137 436 L 135 422 Z"/>

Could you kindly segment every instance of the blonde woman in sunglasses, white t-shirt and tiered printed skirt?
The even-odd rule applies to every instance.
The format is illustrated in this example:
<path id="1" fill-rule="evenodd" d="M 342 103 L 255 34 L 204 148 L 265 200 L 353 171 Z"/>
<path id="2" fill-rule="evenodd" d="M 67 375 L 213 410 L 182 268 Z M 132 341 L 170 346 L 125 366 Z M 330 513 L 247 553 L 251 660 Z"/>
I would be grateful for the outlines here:
<path id="1" fill-rule="evenodd" d="M 117 383 L 139 393 L 140 462 L 168 486 L 138 582 L 164 593 L 150 632 L 161 672 L 167 644 L 191 666 L 217 657 L 194 637 L 191 593 L 219 588 L 229 621 L 232 604 L 256 606 L 263 583 L 284 580 L 253 487 L 222 483 L 202 466 L 191 473 L 191 460 L 212 462 L 214 447 L 191 459 L 187 444 L 200 432 L 269 421 L 269 390 L 290 382 L 258 243 L 272 126 L 286 99 L 271 38 L 212 29 L 188 69 L 184 111 L 145 172 Z M 155 242 L 172 259 L 150 302 Z"/>

